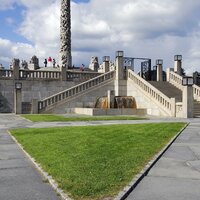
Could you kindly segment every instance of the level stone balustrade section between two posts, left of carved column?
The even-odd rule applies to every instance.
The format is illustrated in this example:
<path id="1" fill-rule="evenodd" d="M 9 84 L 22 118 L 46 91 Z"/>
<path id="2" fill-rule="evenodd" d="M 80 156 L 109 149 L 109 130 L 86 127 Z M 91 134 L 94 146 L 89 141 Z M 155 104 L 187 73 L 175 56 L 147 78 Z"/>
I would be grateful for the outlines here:
<path id="1" fill-rule="evenodd" d="M 19 70 L 19 79 L 57 79 L 61 77 L 60 71 Z"/>

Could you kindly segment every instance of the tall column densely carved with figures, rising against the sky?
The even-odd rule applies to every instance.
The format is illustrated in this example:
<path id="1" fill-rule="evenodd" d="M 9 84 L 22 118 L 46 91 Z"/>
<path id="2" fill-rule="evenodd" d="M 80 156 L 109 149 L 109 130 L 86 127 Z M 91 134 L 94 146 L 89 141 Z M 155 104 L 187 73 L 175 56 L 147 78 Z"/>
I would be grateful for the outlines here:
<path id="1" fill-rule="evenodd" d="M 71 67 L 71 10 L 70 0 L 61 0 L 60 15 L 60 65 Z"/>

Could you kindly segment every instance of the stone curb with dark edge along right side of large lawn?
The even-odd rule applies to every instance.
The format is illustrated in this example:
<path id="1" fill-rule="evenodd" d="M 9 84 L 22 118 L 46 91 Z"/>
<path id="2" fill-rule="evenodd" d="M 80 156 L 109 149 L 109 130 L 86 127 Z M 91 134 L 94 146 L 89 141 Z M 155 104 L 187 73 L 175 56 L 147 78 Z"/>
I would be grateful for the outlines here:
<path id="1" fill-rule="evenodd" d="M 151 168 L 156 164 L 156 162 L 162 157 L 162 155 L 169 149 L 169 147 L 173 144 L 173 142 L 178 138 L 178 136 L 186 129 L 189 125 L 187 123 L 169 142 L 168 144 L 158 153 L 156 154 L 151 161 L 147 163 L 144 169 L 138 173 L 133 180 L 114 198 L 114 200 L 125 200 L 128 195 L 136 188 L 136 186 L 140 183 L 140 181 L 148 175 Z"/>

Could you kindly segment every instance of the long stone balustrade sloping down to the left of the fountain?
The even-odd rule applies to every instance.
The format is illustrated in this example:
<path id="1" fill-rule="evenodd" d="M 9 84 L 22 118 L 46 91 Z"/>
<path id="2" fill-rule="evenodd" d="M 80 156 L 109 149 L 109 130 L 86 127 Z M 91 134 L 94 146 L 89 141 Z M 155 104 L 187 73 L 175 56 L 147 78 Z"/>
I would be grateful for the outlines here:
<path id="1" fill-rule="evenodd" d="M 82 92 L 93 88 L 95 86 L 100 85 L 103 82 L 113 79 L 115 76 L 115 71 L 111 71 L 105 74 L 102 74 L 98 77 L 90 79 L 84 83 L 78 84 L 72 88 L 59 92 L 55 95 L 52 95 L 48 98 L 43 99 L 42 101 L 38 102 L 38 112 L 43 112 L 48 109 L 51 109 L 55 104 L 62 103 L 71 97 L 74 97 Z"/>

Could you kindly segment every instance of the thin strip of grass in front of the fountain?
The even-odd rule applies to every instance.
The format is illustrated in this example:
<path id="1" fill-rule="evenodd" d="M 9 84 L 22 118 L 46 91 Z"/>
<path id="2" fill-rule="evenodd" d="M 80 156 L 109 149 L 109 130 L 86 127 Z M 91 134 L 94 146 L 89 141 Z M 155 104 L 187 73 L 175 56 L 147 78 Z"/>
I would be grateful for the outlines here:
<path id="1" fill-rule="evenodd" d="M 27 114 L 27 115 L 21 115 L 22 117 L 31 120 L 33 122 L 55 122 L 55 121 L 61 121 L 61 122 L 67 122 L 67 121 L 102 121 L 102 120 L 144 120 L 146 118 L 142 117 L 134 117 L 134 116 L 94 116 L 94 117 L 88 117 L 88 116 L 63 116 L 63 115 L 52 115 L 52 114 Z"/>

